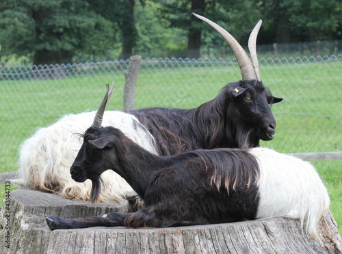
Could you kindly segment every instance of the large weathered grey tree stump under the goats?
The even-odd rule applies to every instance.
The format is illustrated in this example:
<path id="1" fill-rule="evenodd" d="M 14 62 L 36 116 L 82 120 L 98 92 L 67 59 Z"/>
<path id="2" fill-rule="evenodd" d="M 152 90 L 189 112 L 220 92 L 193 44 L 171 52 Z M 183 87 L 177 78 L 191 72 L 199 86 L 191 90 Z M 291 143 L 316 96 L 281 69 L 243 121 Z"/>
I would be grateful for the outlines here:
<path id="1" fill-rule="evenodd" d="M 45 222 L 47 215 L 98 216 L 134 211 L 139 204 L 133 199 L 86 203 L 36 190 L 14 190 L 1 208 L 1 252 L 342 253 L 342 240 L 330 212 L 321 218 L 317 240 L 302 231 L 299 220 L 291 218 L 161 229 L 91 227 L 55 231 Z"/>

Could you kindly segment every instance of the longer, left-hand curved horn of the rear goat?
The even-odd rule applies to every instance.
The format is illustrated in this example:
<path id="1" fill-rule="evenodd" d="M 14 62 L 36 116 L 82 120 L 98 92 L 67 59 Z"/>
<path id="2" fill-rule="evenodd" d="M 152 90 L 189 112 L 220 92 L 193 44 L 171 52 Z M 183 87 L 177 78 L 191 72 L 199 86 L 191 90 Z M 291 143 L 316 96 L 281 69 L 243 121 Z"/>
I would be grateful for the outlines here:
<path id="1" fill-rule="evenodd" d="M 239 42 L 237 42 L 237 40 L 235 40 L 235 38 L 231 36 L 231 33 L 228 33 L 222 27 L 213 23 L 213 21 L 209 20 L 208 18 L 205 18 L 204 16 L 200 16 L 196 13 L 192 14 L 197 18 L 200 18 L 200 20 L 205 21 L 205 23 L 207 23 L 208 25 L 213 27 L 213 29 L 218 31 L 220 35 L 224 38 L 224 40 L 226 40 L 226 42 L 229 44 L 229 46 L 231 46 L 231 49 L 237 59 L 237 64 L 239 64 L 242 79 L 255 80 L 256 76 L 254 74 L 252 62 L 250 61 L 246 51 L 244 51 L 244 48 L 242 48 Z"/>

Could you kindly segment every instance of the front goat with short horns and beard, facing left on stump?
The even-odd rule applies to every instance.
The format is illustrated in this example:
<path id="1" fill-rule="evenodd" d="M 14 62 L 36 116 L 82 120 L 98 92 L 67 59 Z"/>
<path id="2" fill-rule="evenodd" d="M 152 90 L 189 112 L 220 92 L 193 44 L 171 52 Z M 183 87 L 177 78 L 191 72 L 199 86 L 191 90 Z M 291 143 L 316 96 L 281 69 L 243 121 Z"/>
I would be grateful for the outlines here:
<path id="1" fill-rule="evenodd" d="M 112 169 L 144 199 L 144 209 L 92 218 L 48 216 L 50 229 L 173 227 L 287 216 L 300 218 L 308 233 L 317 235 L 330 201 L 311 164 L 263 147 L 152 154 L 117 128 L 101 127 L 110 94 L 107 84 L 70 174 L 77 182 L 92 181 L 91 200 L 96 201 L 100 175 Z"/>

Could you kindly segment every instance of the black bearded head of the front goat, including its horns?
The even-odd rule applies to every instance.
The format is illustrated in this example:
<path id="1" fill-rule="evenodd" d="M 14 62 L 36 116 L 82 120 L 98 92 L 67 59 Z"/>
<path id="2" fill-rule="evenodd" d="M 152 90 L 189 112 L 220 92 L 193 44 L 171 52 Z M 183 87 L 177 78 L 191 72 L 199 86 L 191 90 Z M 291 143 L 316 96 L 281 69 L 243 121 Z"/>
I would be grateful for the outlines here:
<path id="1" fill-rule="evenodd" d="M 105 106 L 111 91 L 109 90 L 109 84 L 107 84 L 107 94 L 101 102 L 94 122 L 83 135 L 83 144 L 77 154 L 73 165 L 70 167 L 71 178 L 77 182 L 84 182 L 87 179 L 92 181 L 92 192 L 90 193 L 90 200 L 96 201 L 100 193 L 100 175 L 107 169 L 110 169 L 109 162 L 115 160 L 115 153 L 109 152 L 104 148 L 110 148 L 111 139 L 114 139 L 114 135 L 108 135 L 107 132 L 114 128 L 101 127 L 103 113 L 105 112 Z M 110 158 L 109 158 L 110 156 Z"/>

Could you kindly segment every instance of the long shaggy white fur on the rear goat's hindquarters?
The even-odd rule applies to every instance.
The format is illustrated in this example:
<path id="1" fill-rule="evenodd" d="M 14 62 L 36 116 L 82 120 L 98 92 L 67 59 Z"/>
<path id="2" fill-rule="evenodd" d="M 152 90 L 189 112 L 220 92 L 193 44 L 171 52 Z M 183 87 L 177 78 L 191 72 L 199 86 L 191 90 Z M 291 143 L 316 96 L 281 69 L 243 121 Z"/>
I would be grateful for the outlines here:
<path id="1" fill-rule="evenodd" d="M 83 142 L 77 134 L 83 134 L 92 125 L 95 113 L 65 115 L 55 124 L 40 128 L 27 139 L 19 156 L 20 179 L 14 180 L 14 183 L 88 201 L 91 181 L 75 182 L 69 171 Z M 135 143 L 156 154 L 153 136 L 133 115 L 122 111 L 105 111 L 102 126 L 119 128 Z M 98 201 L 113 201 L 135 195 L 131 186 L 114 171 L 105 171 L 101 178 L 105 188 L 102 188 Z"/>

